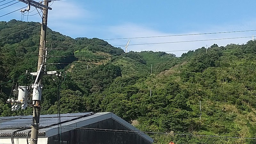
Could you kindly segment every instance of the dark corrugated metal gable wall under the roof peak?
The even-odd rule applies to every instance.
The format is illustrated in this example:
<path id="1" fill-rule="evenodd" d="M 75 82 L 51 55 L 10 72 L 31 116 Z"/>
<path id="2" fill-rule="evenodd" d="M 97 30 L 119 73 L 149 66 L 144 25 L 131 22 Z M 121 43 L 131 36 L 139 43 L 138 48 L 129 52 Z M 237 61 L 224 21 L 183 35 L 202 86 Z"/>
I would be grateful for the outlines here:
<path id="1" fill-rule="evenodd" d="M 86 128 L 129 130 L 122 124 L 109 118 L 84 126 Z M 113 132 L 102 130 L 76 129 L 61 134 L 62 144 L 151 144 L 134 132 Z M 48 144 L 59 144 L 58 135 L 48 138 Z"/>

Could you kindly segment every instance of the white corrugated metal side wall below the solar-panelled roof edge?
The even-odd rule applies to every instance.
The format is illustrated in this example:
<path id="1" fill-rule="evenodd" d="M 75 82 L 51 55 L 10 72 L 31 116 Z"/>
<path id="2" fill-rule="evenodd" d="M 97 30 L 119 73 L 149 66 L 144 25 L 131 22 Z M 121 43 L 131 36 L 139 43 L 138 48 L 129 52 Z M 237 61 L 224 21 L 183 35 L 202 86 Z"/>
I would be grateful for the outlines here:
<path id="1" fill-rule="evenodd" d="M 48 138 L 38 138 L 37 144 L 47 144 Z M 0 143 L 11 144 L 11 138 L 0 139 Z M 30 143 L 30 142 L 29 142 Z M 14 144 L 27 144 L 27 138 L 14 138 Z"/>

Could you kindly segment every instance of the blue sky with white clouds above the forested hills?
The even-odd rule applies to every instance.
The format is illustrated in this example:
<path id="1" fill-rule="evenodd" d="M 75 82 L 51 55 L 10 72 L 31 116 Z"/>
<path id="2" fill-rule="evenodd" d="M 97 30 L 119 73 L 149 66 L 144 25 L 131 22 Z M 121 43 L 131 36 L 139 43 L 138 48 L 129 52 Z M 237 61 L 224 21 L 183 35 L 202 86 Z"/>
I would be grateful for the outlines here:
<path id="1" fill-rule="evenodd" d="M 9 2 L 11 0 L 6 0 Z M 4 3 L 4 2 L 3 2 Z M 3 3 L 0 3 L 3 4 Z M 14 3 L 14 2 L 12 2 Z M 64 35 L 97 37 L 100 39 L 163 36 L 207 32 L 252 30 L 254 27 L 253 0 L 63 0 L 55 1 L 49 11 L 48 27 Z M 0 10 L 0 15 L 26 6 L 18 3 Z M 3 6 L 2 6 L 3 7 Z M 0 7 L 0 8 L 2 8 Z M 34 8 L 31 9 L 33 11 Z M 32 15 L 37 13 L 33 11 Z M 1 21 L 21 20 L 20 12 L 1 17 Z M 24 18 L 27 20 L 27 17 Z M 28 21 L 41 22 L 39 15 L 29 16 Z M 256 31 L 161 38 L 132 39 L 130 44 L 189 41 L 242 36 L 256 36 Z M 188 42 L 174 44 L 128 46 L 128 51 L 190 50 L 216 43 L 245 44 L 251 38 Z M 128 40 L 108 40 L 112 45 L 125 45 Z M 184 51 L 186 52 L 186 51 Z M 180 56 L 183 52 L 173 52 Z"/>

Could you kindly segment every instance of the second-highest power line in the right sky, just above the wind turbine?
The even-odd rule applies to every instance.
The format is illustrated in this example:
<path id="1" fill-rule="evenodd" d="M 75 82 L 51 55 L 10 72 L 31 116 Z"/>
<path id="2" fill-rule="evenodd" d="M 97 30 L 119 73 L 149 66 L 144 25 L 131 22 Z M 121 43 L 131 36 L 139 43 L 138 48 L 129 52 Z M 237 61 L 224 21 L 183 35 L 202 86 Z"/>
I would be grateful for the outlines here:
<path id="1" fill-rule="evenodd" d="M 192 41 L 163 42 L 163 43 L 148 43 L 148 44 L 171 44 L 171 43 L 185 43 L 185 42 L 200 42 L 200 41 L 212 41 L 212 40 L 224 40 L 224 39 L 249 38 L 249 37 L 251 38 L 252 36 L 231 37 L 231 38 L 217 38 L 217 39 L 204 39 L 204 40 L 192 40 Z M 129 44 L 129 45 L 148 45 L 148 44 Z M 113 45 L 113 46 L 125 46 L 125 45 Z"/>

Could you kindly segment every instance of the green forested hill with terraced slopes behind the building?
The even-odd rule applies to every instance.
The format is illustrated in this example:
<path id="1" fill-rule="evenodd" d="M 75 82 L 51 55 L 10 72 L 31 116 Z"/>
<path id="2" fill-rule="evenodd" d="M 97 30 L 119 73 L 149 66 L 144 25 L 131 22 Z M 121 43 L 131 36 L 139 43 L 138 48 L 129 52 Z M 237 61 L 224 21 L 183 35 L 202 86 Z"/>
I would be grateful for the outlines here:
<path id="1" fill-rule="evenodd" d="M 38 24 L 0 22 L 0 37 L 6 36 L 0 39 L 0 116 L 32 113 L 31 108 L 11 112 L 5 100 L 13 97 L 16 84 L 34 81 L 24 74 L 36 71 Z M 26 28 L 30 29 L 10 35 Z M 61 113 L 110 111 L 142 131 L 170 133 L 151 134 L 158 144 L 256 143 L 171 134 L 255 137 L 255 41 L 225 47 L 213 44 L 207 53 L 202 47 L 176 57 L 165 52 L 124 53 L 98 38 L 73 39 L 48 29 L 46 47 L 51 49 L 47 71 L 67 73 L 60 89 Z M 58 112 L 57 93 L 58 84 L 52 76 L 44 76 L 41 114 Z"/>

